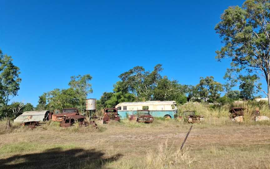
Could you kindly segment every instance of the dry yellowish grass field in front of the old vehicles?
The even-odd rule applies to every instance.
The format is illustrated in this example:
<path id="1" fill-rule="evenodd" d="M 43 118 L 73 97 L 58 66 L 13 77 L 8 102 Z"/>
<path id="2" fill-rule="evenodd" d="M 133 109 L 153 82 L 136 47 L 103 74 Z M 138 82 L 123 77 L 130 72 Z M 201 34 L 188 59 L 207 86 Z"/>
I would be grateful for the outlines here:
<path id="1" fill-rule="evenodd" d="M 98 129 L 13 124 L 10 131 L 2 121 L 0 168 L 270 168 L 270 122 L 240 124 L 228 119 L 227 108 L 188 106 L 206 119 L 193 124 L 182 151 L 191 124 L 173 119 L 98 123 Z"/>

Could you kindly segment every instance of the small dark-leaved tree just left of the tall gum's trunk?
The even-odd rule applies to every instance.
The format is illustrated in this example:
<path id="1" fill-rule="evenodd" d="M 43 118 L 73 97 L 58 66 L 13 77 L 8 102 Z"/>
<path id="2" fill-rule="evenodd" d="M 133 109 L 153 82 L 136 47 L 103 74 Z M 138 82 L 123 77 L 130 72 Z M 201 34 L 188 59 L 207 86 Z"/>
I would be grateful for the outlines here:
<path id="1" fill-rule="evenodd" d="M 253 99 L 254 94 L 258 93 L 258 90 L 255 90 L 255 81 L 257 81 L 257 75 L 240 75 L 239 76 L 241 82 L 239 85 L 240 95 L 244 99 Z"/>

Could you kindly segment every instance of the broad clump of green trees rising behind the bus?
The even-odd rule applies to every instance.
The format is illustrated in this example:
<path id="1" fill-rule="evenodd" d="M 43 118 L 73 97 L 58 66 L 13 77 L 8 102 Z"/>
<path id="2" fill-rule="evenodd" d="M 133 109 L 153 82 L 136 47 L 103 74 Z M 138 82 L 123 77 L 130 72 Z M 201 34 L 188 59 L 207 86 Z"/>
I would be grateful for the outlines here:
<path id="1" fill-rule="evenodd" d="M 110 108 L 122 102 L 148 100 L 175 100 L 178 104 L 186 103 L 187 85 L 178 84 L 177 80 L 168 80 L 160 75 L 161 65 L 156 65 L 152 72 L 136 66 L 119 76 L 121 81 L 113 85 L 113 93 L 105 92 L 98 101 L 98 109 Z"/>

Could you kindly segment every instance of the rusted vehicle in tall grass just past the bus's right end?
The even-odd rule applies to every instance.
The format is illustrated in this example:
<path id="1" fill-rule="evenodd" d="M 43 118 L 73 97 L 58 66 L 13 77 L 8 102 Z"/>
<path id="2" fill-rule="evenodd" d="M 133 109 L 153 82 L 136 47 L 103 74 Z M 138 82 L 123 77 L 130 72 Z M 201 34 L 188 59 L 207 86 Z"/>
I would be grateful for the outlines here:
<path id="1" fill-rule="evenodd" d="M 183 110 L 180 114 L 176 114 L 175 118 L 187 123 L 200 123 L 204 120 L 204 117 L 197 115 L 195 110 Z"/>

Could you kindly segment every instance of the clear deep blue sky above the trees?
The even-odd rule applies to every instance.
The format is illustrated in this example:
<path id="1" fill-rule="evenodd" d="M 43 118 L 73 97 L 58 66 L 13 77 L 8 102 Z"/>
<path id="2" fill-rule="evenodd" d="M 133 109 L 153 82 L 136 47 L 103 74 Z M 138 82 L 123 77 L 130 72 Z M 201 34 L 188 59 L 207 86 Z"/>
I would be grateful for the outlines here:
<path id="1" fill-rule="evenodd" d="M 110 92 L 118 75 L 140 65 L 181 84 L 214 76 L 224 82 L 229 61 L 217 62 L 214 31 L 228 6 L 243 1 L 6 1 L 0 0 L 0 49 L 21 70 L 13 101 L 68 88 L 90 74 L 93 94 Z"/>

